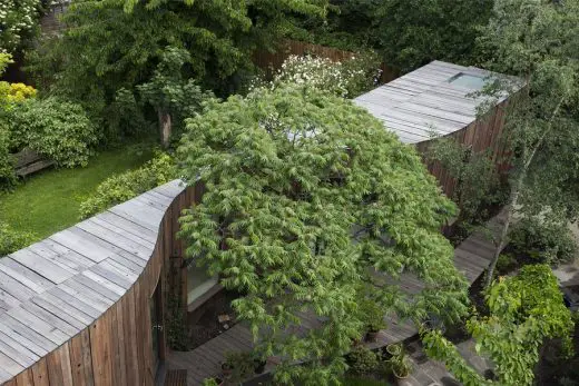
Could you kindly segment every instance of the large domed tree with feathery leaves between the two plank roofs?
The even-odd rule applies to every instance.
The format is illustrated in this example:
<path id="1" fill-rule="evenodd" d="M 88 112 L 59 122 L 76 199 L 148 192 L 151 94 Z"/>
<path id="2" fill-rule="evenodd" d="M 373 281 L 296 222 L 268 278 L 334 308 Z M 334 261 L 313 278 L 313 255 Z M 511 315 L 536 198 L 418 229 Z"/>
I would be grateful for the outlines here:
<path id="1" fill-rule="evenodd" d="M 188 256 L 244 294 L 235 310 L 259 352 L 282 358 L 278 382 L 296 373 L 312 385 L 336 379 L 363 334 L 357 305 L 369 288 L 384 315 L 462 315 L 465 281 L 440 234 L 454 207 L 381 121 L 307 86 L 206 108 L 179 148 L 188 184 L 205 186 L 181 235 Z M 404 293 L 395 280 L 404 275 L 424 289 Z M 323 323 L 297 338 L 286 331 L 302 313 Z"/>

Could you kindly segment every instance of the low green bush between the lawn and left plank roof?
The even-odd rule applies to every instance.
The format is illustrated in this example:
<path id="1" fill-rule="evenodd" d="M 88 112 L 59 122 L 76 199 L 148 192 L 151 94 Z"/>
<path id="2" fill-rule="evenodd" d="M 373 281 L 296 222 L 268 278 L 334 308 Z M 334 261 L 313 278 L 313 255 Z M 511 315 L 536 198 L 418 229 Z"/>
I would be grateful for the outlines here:
<path id="1" fill-rule="evenodd" d="M 88 218 L 125 202 L 176 177 L 177 169 L 173 158 L 167 154 L 158 154 L 143 167 L 112 176 L 100 184 L 97 191 L 80 205 L 80 218 Z"/>

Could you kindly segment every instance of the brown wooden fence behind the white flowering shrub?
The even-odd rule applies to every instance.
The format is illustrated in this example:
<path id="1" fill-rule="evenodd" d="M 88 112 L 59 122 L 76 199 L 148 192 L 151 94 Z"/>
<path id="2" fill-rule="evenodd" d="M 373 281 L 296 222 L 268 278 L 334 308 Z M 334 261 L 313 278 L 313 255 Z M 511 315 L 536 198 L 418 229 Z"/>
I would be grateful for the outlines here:
<path id="1" fill-rule="evenodd" d="M 264 69 L 267 76 L 271 76 L 272 70 L 275 71 L 279 69 L 284 61 L 293 55 L 314 55 L 317 57 L 327 58 L 332 61 L 344 61 L 356 56 L 355 52 L 344 51 L 333 47 L 313 44 L 297 40 L 286 40 L 276 52 L 269 52 L 265 50 L 256 51 L 253 56 L 253 61 L 257 67 Z M 400 76 L 399 70 L 387 66 L 384 62 L 382 62 L 380 69 L 382 70 L 380 83 L 386 83 Z"/>

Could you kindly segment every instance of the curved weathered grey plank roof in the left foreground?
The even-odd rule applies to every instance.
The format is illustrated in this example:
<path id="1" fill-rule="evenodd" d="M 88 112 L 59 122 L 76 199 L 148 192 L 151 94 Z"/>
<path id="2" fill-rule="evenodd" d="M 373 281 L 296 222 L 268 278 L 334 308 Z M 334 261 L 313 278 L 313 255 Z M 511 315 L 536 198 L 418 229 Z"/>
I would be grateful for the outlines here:
<path id="1" fill-rule="evenodd" d="M 137 280 L 178 181 L 0 259 L 0 384 L 70 340 Z"/>

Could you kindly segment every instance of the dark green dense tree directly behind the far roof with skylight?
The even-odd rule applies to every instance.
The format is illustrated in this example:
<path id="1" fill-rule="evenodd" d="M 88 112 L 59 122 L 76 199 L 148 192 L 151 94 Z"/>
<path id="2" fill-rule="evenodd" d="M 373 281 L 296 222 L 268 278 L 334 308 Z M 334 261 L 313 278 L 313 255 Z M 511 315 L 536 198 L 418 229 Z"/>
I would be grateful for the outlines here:
<path id="1" fill-rule="evenodd" d="M 294 39 L 373 48 L 403 72 L 432 60 L 472 65 L 493 0 L 331 0 L 327 20 L 297 18 Z"/>

